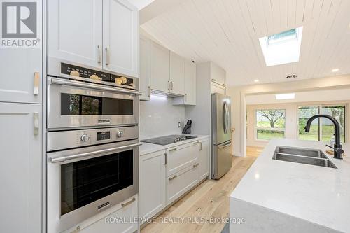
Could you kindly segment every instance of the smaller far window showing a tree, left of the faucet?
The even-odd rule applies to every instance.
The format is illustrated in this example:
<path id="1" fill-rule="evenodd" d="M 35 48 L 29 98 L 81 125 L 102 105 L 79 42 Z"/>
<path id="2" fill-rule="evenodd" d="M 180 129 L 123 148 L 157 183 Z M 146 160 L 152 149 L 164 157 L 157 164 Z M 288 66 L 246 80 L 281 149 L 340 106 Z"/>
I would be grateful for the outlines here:
<path id="1" fill-rule="evenodd" d="M 258 140 L 284 138 L 286 132 L 286 110 L 260 109 L 255 113 L 255 135 Z"/>

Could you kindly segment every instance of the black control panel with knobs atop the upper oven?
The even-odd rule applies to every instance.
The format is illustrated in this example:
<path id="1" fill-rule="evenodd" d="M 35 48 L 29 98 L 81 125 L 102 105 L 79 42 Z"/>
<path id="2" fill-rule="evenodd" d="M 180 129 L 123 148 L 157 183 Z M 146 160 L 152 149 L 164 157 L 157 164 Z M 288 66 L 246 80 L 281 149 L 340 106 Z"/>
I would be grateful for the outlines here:
<path id="1" fill-rule="evenodd" d="M 117 76 L 112 73 L 95 71 L 93 69 L 87 69 L 84 67 L 74 66 L 71 64 L 61 63 L 61 73 L 69 76 L 76 76 L 80 78 L 90 78 L 96 81 L 104 81 L 108 83 L 115 83 L 116 85 L 120 85 L 120 86 L 136 88 L 134 78 Z"/>

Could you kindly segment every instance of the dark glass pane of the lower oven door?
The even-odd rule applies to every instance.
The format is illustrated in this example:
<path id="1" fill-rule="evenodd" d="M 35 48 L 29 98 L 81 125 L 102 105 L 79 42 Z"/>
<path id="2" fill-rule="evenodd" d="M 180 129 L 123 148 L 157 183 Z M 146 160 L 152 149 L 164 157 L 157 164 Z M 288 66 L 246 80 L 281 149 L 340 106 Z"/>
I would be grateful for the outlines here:
<path id="1" fill-rule="evenodd" d="M 134 183 L 134 150 L 61 165 L 61 215 Z"/>

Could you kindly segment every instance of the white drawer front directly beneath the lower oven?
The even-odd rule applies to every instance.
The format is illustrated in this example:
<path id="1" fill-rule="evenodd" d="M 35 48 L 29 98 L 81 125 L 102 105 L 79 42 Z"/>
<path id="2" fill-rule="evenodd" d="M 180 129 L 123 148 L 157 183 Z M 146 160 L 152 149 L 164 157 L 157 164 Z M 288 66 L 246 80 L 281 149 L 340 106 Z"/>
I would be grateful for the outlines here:
<path id="1" fill-rule="evenodd" d="M 138 197 L 130 197 L 125 202 L 111 207 L 97 216 L 85 220 L 80 225 L 64 233 L 132 233 L 139 229 Z"/>

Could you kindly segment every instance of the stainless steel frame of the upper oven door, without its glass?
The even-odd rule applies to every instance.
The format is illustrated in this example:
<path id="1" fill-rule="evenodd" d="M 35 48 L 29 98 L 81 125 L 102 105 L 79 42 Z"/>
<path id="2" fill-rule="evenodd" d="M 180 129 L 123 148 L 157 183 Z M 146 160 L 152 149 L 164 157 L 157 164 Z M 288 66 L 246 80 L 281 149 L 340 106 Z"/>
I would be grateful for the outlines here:
<path id="1" fill-rule="evenodd" d="M 55 78 L 57 80 L 59 78 Z M 122 92 L 94 90 L 87 87 L 71 85 L 57 85 L 51 83 L 48 77 L 48 129 L 71 127 L 99 127 L 102 125 L 138 125 L 139 124 L 139 95 Z M 73 82 L 73 81 L 72 81 Z M 116 89 L 116 88 L 112 88 Z M 119 88 L 120 89 L 120 88 Z M 133 92 L 126 90 L 127 92 Z M 116 99 L 130 99 L 134 101 L 133 115 L 61 115 L 61 93 L 84 94 L 94 97 L 109 97 Z M 134 93 L 134 92 L 133 92 Z M 99 120 L 107 120 L 99 122 Z"/>

